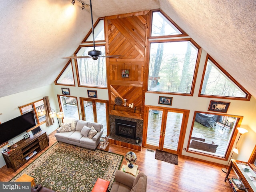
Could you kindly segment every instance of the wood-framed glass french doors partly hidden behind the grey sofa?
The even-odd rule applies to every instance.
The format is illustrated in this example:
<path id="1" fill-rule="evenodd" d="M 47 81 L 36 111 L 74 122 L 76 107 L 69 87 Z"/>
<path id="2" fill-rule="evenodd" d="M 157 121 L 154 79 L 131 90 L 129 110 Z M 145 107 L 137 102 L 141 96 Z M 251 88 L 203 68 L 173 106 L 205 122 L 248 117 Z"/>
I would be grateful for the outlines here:
<path id="1" fill-rule="evenodd" d="M 82 109 L 82 119 L 103 124 L 103 134 L 107 134 L 108 101 L 80 98 L 80 104 Z"/>

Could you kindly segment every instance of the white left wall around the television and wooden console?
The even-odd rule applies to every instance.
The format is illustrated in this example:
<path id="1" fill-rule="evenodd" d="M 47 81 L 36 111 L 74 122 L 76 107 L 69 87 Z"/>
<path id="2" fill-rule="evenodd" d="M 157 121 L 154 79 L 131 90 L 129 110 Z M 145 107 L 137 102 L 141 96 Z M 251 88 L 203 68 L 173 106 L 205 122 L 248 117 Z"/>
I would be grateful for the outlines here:
<path id="1" fill-rule="evenodd" d="M 2 115 L 0 115 L 0 122 L 3 123 L 8 120 L 11 120 L 12 118 L 20 116 L 21 114 L 20 114 L 20 109 L 18 108 L 18 106 L 22 106 L 22 105 L 34 102 L 36 100 L 40 100 L 44 96 L 49 96 L 50 105 L 55 110 L 58 107 L 58 105 L 56 105 L 55 100 L 54 100 L 56 95 L 54 94 L 52 85 L 16 93 L 16 94 L 9 95 L 6 97 L 1 97 L 0 98 L 0 103 L 1 103 L 0 113 L 2 113 Z M 58 128 L 58 121 L 56 118 L 54 118 L 54 122 L 55 122 L 54 125 L 49 126 L 49 127 L 46 127 L 46 124 L 44 123 L 40 126 L 40 128 L 42 130 L 46 131 L 47 134 L 50 134 L 51 132 L 53 132 L 54 130 L 56 130 Z M 31 134 L 31 132 L 30 132 L 30 134 Z M 24 134 L 20 134 L 19 136 L 13 138 L 12 139 L 13 142 L 15 143 L 15 142 L 18 142 L 19 140 L 22 140 L 23 135 Z M 1 151 L 4 148 L 7 148 L 7 146 L 4 146 L 1 149 Z M 1 154 L 0 155 L 0 167 L 2 167 L 4 165 L 5 165 L 4 158 Z"/>

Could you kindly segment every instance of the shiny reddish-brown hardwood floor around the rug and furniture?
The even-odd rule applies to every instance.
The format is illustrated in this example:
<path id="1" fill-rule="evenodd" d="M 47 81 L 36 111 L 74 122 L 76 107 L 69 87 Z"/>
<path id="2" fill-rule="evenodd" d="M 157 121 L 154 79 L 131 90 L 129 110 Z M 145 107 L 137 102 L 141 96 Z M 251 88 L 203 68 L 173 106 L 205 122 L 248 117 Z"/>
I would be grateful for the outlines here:
<path id="1" fill-rule="evenodd" d="M 54 133 L 49 135 L 49 140 L 50 146 L 56 142 Z M 35 160 L 49 147 L 36 154 L 32 160 Z M 98 149 L 100 149 L 99 146 Z M 109 144 L 105 151 L 125 155 L 130 149 Z M 136 163 L 140 172 L 144 172 L 148 176 L 147 192 L 232 192 L 228 182 L 224 182 L 226 174 L 222 172 L 221 168 L 223 166 L 221 165 L 179 156 L 177 166 L 156 160 L 154 158 L 155 151 L 152 152 L 147 148 L 142 148 L 141 152 L 134 152 L 137 155 Z M 16 172 L 4 166 L 0 169 L 0 181 L 7 182 L 11 180 L 32 160 Z M 122 164 L 126 163 L 124 159 Z M 233 172 L 231 174 L 234 175 Z"/>

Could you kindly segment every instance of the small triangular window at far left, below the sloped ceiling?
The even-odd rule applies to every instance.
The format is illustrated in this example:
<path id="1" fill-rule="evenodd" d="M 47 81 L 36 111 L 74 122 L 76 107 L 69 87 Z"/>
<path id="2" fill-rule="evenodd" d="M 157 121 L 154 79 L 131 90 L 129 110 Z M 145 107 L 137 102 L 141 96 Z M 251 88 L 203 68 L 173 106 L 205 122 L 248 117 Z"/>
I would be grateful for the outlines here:
<path id="1" fill-rule="evenodd" d="M 71 61 L 66 64 L 66 66 L 54 82 L 55 84 L 75 86 Z"/>

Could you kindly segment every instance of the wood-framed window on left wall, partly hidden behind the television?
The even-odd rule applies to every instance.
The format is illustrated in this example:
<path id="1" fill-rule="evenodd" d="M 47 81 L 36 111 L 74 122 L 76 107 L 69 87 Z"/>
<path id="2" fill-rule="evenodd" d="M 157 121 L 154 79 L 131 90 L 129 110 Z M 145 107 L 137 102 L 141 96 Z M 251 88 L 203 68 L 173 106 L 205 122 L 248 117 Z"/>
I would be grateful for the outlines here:
<path id="1" fill-rule="evenodd" d="M 21 114 L 25 114 L 25 113 L 28 113 L 30 111 L 33 111 L 34 112 L 34 117 L 35 117 L 35 122 L 36 122 L 37 126 L 41 125 L 45 122 L 45 115 L 38 116 L 38 113 L 37 113 L 38 110 L 44 109 L 43 99 L 38 100 L 36 102 L 26 104 L 26 105 L 23 105 L 23 106 L 19 106 L 19 108 L 20 108 L 20 113 Z"/>

